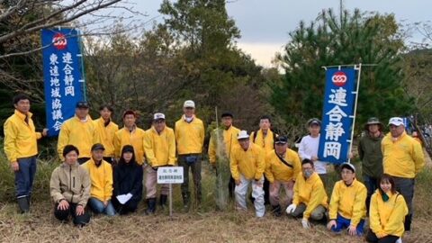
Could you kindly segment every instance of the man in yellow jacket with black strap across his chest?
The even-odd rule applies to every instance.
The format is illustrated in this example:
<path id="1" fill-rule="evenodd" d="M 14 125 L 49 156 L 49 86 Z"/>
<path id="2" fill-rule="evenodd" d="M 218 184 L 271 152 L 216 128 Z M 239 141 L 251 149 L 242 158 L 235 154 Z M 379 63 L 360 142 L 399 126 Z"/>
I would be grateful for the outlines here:
<path id="1" fill-rule="evenodd" d="M 302 171 L 299 155 L 288 148 L 288 139 L 279 136 L 275 139 L 275 149 L 266 155 L 266 177 L 270 182 L 270 204 L 275 216 L 282 215 L 279 204 L 281 186 L 288 196 L 288 202 L 293 200 L 293 186 L 297 175 Z"/>

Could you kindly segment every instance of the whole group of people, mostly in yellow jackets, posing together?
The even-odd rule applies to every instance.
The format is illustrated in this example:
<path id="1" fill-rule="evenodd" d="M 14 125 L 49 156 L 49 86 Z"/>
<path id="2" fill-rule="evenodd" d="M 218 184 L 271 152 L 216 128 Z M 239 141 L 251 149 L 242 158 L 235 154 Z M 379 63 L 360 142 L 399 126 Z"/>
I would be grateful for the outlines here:
<path id="1" fill-rule="evenodd" d="M 47 130 L 36 132 L 31 120 L 30 100 L 24 94 L 14 97 L 15 112 L 4 123 L 4 151 L 15 171 L 17 202 L 22 212 L 29 211 L 31 187 L 36 171 L 37 139 Z M 195 116 L 195 104 L 184 102 L 182 117 L 175 129 L 166 126 L 166 117 L 157 112 L 148 130 L 136 125 L 137 113 L 123 112 L 124 127 L 119 130 L 111 119 L 112 109 L 104 105 L 101 117 L 92 120 L 88 103 L 76 103 L 76 115 L 65 121 L 58 136 L 58 156 L 63 162 L 51 175 L 50 194 L 58 220 L 72 215 L 76 225 L 90 220 L 89 208 L 96 213 L 115 215 L 136 211 L 142 198 L 145 178 L 146 213 L 157 207 L 157 169 L 183 166 L 181 185 L 184 210 L 191 206 L 189 168 L 193 175 L 193 198 L 202 201 L 201 170 L 204 126 Z M 424 166 L 419 142 L 406 134 L 403 120 L 393 117 L 390 132 L 383 134 L 383 123 L 371 118 L 365 124 L 358 154 L 362 160 L 363 182 L 357 180 L 356 167 L 342 164 L 341 180 L 330 199 L 328 164 L 318 155 L 321 122 L 307 122 L 309 135 L 302 138 L 298 152 L 288 148 L 288 138 L 271 130 L 271 119 L 262 116 L 259 130 L 250 134 L 233 126 L 233 114 L 221 114 L 221 129 L 211 133 L 209 162 L 229 166 L 229 195 L 239 211 L 247 210 L 247 190 L 257 217 L 266 213 L 266 203 L 275 216 L 286 211 L 302 218 L 305 229 L 311 221 L 329 220 L 329 230 L 363 235 L 368 212 L 370 242 L 396 242 L 410 230 L 415 177 Z M 218 133 L 219 132 L 219 133 Z M 222 135 L 217 142 L 215 134 Z M 229 163 L 218 165 L 222 157 Z M 145 174 L 145 176 L 144 176 Z M 281 191 L 288 198 L 284 209 Z M 161 185 L 159 204 L 167 201 L 167 186 Z"/>

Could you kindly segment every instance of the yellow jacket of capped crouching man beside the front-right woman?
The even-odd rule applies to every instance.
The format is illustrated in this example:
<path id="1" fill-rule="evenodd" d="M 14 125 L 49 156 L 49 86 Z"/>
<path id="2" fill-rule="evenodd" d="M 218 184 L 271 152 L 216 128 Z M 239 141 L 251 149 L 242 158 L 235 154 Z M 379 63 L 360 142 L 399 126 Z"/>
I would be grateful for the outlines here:
<path id="1" fill-rule="evenodd" d="M 351 220 L 352 226 L 357 226 L 366 217 L 365 184 L 354 179 L 353 184 L 347 186 L 344 181 L 338 181 L 333 187 L 329 205 L 329 219 L 336 220 L 340 216 Z"/>

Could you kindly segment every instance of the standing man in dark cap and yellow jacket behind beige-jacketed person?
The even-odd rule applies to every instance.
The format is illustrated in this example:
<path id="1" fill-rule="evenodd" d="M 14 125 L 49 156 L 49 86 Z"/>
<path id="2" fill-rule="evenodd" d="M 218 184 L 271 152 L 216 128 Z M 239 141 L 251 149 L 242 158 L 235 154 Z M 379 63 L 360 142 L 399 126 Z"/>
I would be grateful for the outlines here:
<path id="1" fill-rule="evenodd" d="M 79 150 L 78 163 L 83 164 L 90 159 L 92 148 L 95 140 L 94 121 L 88 115 L 89 106 L 86 102 L 76 103 L 75 116 L 63 122 L 60 133 L 58 134 L 57 151 L 61 161 L 63 157 L 63 148 L 67 144 L 74 145 Z"/>

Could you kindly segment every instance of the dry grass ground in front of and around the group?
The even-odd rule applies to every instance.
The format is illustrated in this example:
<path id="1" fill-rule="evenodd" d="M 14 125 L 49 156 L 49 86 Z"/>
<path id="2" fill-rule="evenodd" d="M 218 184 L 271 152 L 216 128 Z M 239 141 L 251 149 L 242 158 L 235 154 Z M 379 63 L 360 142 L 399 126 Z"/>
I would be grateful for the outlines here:
<path id="1" fill-rule="evenodd" d="M 324 225 L 305 230 L 300 220 L 286 216 L 275 218 L 268 211 L 263 219 L 257 219 L 252 207 L 247 212 L 238 212 L 231 203 L 227 211 L 216 211 L 211 193 L 214 178 L 206 166 L 203 168 L 204 199 L 200 210 L 181 212 L 180 192 L 175 186 L 172 218 L 166 210 L 160 209 L 154 216 L 145 216 L 143 202 L 134 215 L 95 216 L 85 228 L 77 229 L 71 222 L 59 223 L 52 215 L 47 180 L 53 165 L 40 163 L 31 213 L 21 215 L 11 200 L 13 177 L 6 173 L 7 166 L 1 164 L 1 242 L 364 242 L 364 238 L 348 237 L 346 233 L 334 235 Z M 428 166 L 417 180 L 413 229 L 410 235 L 404 236 L 403 242 L 432 242 L 431 188 L 432 169 Z"/>

